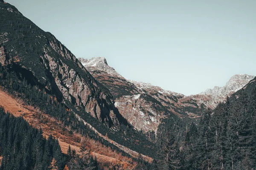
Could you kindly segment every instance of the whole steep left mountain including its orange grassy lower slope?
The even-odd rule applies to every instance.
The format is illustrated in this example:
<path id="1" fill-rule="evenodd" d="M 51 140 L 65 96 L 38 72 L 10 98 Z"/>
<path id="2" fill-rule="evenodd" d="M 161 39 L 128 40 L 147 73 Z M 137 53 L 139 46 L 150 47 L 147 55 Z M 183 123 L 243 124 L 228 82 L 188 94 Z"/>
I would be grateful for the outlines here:
<path id="1" fill-rule="evenodd" d="M 12 98 L 9 101 L 29 109 L 12 110 L 4 96 L 0 98 L 1 108 L 10 109 L 17 116 L 28 116 L 26 120 L 47 136 L 51 132 L 65 143 L 61 145 L 64 153 L 69 144 L 76 143 L 76 150 L 82 154 L 81 139 L 85 137 L 104 150 L 112 150 L 99 153 L 95 146 L 83 149 L 83 153 L 90 153 L 94 148 L 92 154 L 105 156 L 108 164 L 104 166 L 108 168 L 127 167 L 122 163 L 123 167 L 117 168 L 119 165 L 113 163 L 120 156 L 126 156 L 133 167 L 139 157 L 152 161 L 155 144 L 129 125 L 115 107 L 110 90 L 71 51 L 9 3 L 0 1 L 0 16 L 0 92 Z M 76 134 L 81 136 L 78 140 Z"/>

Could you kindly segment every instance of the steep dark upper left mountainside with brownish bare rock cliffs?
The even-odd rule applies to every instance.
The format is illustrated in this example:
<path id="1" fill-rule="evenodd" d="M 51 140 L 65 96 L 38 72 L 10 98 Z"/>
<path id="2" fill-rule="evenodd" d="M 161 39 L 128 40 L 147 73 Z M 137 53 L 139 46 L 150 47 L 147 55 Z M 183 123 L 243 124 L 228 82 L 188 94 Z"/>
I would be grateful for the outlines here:
<path id="1" fill-rule="evenodd" d="M 0 3 L 0 16 L 1 65 L 11 64 L 6 62 L 9 51 L 14 56 L 11 68 L 21 78 L 45 88 L 59 101 L 80 106 L 109 127 L 118 124 L 112 94 L 61 42 L 8 3 Z"/>

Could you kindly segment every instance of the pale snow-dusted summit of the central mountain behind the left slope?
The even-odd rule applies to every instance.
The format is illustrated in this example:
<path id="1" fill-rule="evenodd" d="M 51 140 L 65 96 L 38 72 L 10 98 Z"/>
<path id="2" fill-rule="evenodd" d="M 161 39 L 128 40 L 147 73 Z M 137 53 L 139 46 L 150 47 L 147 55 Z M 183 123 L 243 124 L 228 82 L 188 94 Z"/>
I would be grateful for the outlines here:
<path id="1" fill-rule="evenodd" d="M 113 67 L 108 65 L 105 57 L 93 57 L 91 59 L 78 58 L 88 71 L 104 71 L 112 76 L 122 77 Z"/>

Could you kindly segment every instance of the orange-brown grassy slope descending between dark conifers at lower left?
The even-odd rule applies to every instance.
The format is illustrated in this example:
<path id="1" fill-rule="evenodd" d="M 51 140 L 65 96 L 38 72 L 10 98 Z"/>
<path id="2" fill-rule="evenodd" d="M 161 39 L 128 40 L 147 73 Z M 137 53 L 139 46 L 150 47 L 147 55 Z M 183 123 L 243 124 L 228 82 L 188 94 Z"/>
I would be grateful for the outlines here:
<path id="1" fill-rule="evenodd" d="M 136 162 L 131 158 L 122 156 L 110 147 L 106 147 L 98 141 L 90 139 L 88 136 L 82 136 L 79 133 L 71 131 L 70 127 L 65 127 L 61 121 L 58 121 L 51 116 L 42 113 L 39 109 L 29 105 L 24 105 L 21 99 L 9 95 L 0 87 L 0 107 L 5 111 L 9 111 L 14 116 L 22 116 L 30 125 L 35 128 L 42 129 L 43 135 L 48 137 L 50 134 L 58 139 L 63 153 L 67 153 L 70 145 L 71 149 L 75 149 L 76 153 L 80 152 L 81 143 L 85 144 L 87 151 L 91 151 L 93 156 L 96 156 L 102 168 L 108 169 L 113 165 L 119 165 L 121 169 L 134 169 Z"/>

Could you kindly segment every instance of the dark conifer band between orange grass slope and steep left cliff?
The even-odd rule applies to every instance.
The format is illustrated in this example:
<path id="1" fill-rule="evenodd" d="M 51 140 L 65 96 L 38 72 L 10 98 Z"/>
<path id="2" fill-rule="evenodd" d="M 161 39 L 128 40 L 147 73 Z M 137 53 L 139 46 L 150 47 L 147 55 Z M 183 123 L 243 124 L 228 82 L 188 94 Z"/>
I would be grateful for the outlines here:
<path id="1" fill-rule="evenodd" d="M 82 109 L 77 109 L 68 102 L 66 102 L 66 104 L 58 102 L 53 94 L 48 94 L 47 91 L 36 85 L 30 85 L 19 72 L 13 72 L 12 68 L 1 67 L 0 85 L 10 94 L 22 98 L 28 105 L 40 108 L 41 111 L 60 120 L 64 125 L 70 126 L 74 131 L 83 135 L 88 135 L 90 138 L 98 140 L 106 146 L 110 146 L 125 156 L 129 155 L 113 144 L 100 138 L 89 127 L 84 126 L 83 123 L 75 117 L 74 113 L 89 122 L 90 125 L 95 127 L 104 136 L 107 134 L 110 139 L 114 139 L 119 144 L 123 144 L 124 146 L 127 146 L 132 150 L 136 150 L 139 153 L 154 156 L 154 152 L 151 152 L 152 149 L 154 149 L 154 144 L 146 139 L 147 137 L 142 131 L 137 131 L 132 127 L 127 127 L 122 124 L 119 126 L 119 130 L 110 130 Z M 70 133 L 72 132 L 70 131 Z M 124 140 L 125 138 L 126 140 Z"/>

